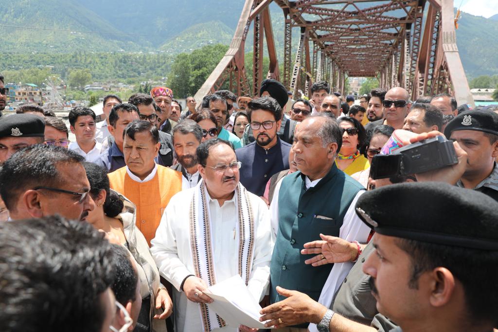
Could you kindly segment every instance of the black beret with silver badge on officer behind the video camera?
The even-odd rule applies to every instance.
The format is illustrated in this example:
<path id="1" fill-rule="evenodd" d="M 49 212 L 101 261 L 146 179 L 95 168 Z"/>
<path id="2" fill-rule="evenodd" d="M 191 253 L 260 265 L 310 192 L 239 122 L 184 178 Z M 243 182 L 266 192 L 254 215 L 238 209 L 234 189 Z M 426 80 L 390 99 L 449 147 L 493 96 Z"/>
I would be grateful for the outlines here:
<path id="1" fill-rule="evenodd" d="M 492 111 L 465 111 L 453 118 L 444 129 L 450 138 L 455 130 L 478 130 L 498 135 L 498 114 Z"/>

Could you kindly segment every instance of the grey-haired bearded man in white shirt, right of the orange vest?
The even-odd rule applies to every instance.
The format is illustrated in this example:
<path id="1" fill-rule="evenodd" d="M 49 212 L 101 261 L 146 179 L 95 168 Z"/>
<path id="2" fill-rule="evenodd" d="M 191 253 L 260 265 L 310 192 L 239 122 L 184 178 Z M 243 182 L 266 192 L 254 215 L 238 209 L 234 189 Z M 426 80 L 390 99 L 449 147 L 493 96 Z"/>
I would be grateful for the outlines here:
<path id="1" fill-rule="evenodd" d="M 194 120 L 184 119 L 171 131 L 178 163 L 171 169 L 182 173 L 182 190 L 197 186 L 201 175 L 197 169 L 196 150 L 202 141 L 202 128 Z"/>

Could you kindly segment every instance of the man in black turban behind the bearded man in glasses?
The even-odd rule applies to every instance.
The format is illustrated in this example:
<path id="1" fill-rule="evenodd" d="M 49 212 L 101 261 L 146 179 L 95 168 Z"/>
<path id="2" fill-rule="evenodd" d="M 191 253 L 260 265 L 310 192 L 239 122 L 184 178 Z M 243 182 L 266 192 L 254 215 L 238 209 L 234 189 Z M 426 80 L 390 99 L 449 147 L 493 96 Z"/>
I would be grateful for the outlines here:
<path id="1" fill-rule="evenodd" d="M 277 101 L 278 105 L 280 105 L 280 108 L 282 109 L 282 123 L 280 124 L 277 134 L 282 141 L 292 144 L 297 121 L 290 120 L 289 118 L 283 116 L 285 114 L 285 106 L 289 100 L 289 95 L 287 94 L 287 90 L 283 84 L 273 79 L 266 79 L 261 82 L 259 96 L 271 97 Z M 254 135 L 252 134 L 250 125 L 248 125 L 242 136 L 242 145 L 248 145 L 253 141 Z"/>

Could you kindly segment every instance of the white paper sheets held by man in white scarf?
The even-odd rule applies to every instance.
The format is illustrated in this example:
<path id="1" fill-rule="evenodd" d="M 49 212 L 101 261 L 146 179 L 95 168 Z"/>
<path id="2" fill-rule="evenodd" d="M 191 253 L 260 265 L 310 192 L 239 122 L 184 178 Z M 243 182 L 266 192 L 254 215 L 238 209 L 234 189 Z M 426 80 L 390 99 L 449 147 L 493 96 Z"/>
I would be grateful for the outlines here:
<path id="1" fill-rule="evenodd" d="M 214 300 L 208 306 L 227 325 L 234 328 L 245 325 L 253 329 L 266 329 L 264 322 L 259 322 L 261 306 L 251 296 L 240 275 L 211 286 L 204 293 Z"/>

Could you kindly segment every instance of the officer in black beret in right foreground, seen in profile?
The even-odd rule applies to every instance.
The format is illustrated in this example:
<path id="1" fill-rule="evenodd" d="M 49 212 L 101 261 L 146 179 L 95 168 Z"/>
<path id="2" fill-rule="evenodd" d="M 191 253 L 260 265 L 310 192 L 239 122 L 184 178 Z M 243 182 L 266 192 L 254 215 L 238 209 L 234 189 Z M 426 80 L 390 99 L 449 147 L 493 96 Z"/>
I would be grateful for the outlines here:
<path id="1" fill-rule="evenodd" d="M 495 200 L 445 183 L 404 183 L 365 193 L 356 210 L 376 232 L 363 270 L 378 311 L 399 326 L 392 331 L 498 326 Z"/>

